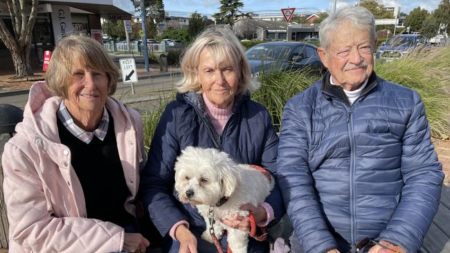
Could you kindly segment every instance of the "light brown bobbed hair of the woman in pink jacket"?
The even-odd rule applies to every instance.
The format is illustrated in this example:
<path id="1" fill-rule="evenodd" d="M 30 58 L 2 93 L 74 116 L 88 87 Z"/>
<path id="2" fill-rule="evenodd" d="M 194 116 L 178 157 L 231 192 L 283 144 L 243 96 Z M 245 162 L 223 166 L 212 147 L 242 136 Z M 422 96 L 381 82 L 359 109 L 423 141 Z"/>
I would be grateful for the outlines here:
<path id="1" fill-rule="evenodd" d="M 58 41 L 45 74 L 46 84 L 54 95 L 67 98 L 75 61 L 85 68 L 104 71 L 108 77 L 108 94 L 116 92 L 119 72 L 105 48 L 91 37 L 71 35 Z"/>

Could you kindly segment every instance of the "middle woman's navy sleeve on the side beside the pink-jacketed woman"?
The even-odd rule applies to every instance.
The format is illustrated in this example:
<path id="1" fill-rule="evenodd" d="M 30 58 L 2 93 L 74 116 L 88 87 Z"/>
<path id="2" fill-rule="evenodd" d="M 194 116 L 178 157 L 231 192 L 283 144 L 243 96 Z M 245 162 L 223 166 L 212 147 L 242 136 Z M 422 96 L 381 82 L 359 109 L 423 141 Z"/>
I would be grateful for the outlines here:
<path id="1" fill-rule="evenodd" d="M 172 225 L 178 221 L 188 220 L 172 194 L 174 163 L 179 151 L 175 133 L 176 119 L 176 108 L 173 103 L 169 104 L 154 132 L 139 189 L 150 218 L 163 236 L 168 234 Z"/>

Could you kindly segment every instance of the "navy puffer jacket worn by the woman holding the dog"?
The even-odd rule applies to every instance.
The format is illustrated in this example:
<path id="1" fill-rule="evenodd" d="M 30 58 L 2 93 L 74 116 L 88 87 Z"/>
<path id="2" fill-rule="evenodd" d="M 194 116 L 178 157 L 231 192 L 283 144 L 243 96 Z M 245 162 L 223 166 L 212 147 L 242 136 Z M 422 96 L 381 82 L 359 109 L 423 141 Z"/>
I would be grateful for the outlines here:
<path id="1" fill-rule="evenodd" d="M 174 163 L 188 146 L 219 147 L 236 162 L 276 172 L 278 136 L 264 106 L 250 100 L 248 94 L 236 97 L 233 113 L 219 136 L 204 111 L 201 95 L 178 94 L 177 100 L 165 108 L 156 128 L 139 189 L 154 225 L 163 236 L 181 220 L 188 221 L 190 227 L 206 229 L 197 209 L 181 205 L 174 191 Z M 278 186 L 266 202 L 273 207 L 276 218 L 285 214 Z"/>

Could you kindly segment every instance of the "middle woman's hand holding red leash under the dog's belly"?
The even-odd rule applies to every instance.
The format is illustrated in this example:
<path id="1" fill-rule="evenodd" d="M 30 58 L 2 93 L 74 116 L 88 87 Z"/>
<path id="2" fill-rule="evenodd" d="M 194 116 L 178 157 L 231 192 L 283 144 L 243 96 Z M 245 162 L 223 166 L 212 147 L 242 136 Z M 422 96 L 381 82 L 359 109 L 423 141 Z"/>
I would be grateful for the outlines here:
<path id="1" fill-rule="evenodd" d="M 255 217 L 255 223 L 259 223 L 267 219 L 266 209 L 264 207 L 255 207 L 249 203 L 244 204 L 240 207 L 242 211 L 253 212 Z M 228 227 L 233 227 L 235 229 L 240 229 L 242 231 L 250 229 L 250 219 L 248 216 L 240 216 L 239 214 L 231 214 L 230 216 L 220 218 L 220 221 L 227 225 Z"/>

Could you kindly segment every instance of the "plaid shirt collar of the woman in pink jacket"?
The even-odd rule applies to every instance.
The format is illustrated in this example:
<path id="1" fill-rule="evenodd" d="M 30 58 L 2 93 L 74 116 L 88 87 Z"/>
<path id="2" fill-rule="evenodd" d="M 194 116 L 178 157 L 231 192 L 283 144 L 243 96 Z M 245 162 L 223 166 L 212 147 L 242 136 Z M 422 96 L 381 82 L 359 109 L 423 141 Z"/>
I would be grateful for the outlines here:
<path id="1" fill-rule="evenodd" d="M 64 100 L 60 103 L 60 109 L 57 111 L 57 117 L 61 120 L 64 127 L 66 127 L 69 132 L 86 144 L 91 142 L 94 135 L 100 140 L 105 140 L 109 124 L 109 115 L 105 106 L 103 106 L 103 115 L 100 119 L 100 123 L 98 124 L 98 128 L 93 132 L 84 131 L 73 122 L 73 118 L 69 111 L 67 111 Z"/>

